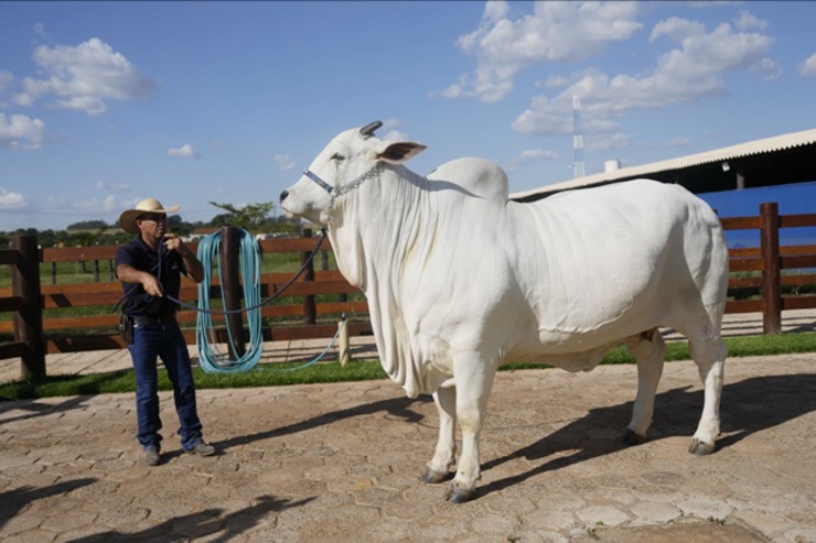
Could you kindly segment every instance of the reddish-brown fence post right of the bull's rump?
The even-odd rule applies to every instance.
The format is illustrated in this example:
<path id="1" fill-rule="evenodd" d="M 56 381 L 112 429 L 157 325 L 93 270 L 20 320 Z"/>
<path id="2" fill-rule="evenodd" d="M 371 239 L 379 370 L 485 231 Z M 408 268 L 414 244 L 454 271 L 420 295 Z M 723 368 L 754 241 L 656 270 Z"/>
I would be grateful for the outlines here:
<path id="1" fill-rule="evenodd" d="M 760 204 L 760 250 L 762 252 L 762 329 L 782 332 L 780 287 L 780 213 L 776 203 Z"/>

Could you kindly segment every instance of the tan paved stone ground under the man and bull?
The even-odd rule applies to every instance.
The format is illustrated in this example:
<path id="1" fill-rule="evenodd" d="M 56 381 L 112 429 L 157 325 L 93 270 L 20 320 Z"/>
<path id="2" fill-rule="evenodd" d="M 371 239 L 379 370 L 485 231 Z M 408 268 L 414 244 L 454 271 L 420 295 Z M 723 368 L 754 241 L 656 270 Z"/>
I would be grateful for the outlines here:
<path id="1" fill-rule="evenodd" d="M 389 381 L 202 390 L 221 454 L 184 455 L 161 393 L 163 463 L 133 394 L 0 403 L 0 540 L 816 541 L 816 357 L 731 359 L 721 448 L 686 449 L 691 362 L 666 365 L 651 441 L 623 447 L 631 366 L 500 373 L 474 501 L 419 481 L 436 409 Z"/>

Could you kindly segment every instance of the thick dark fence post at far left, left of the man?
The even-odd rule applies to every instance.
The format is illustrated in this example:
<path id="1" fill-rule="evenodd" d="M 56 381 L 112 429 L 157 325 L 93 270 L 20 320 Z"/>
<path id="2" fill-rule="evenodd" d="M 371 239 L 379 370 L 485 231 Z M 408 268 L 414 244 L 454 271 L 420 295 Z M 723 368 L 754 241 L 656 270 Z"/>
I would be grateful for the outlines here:
<path id="1" fill-rule="evenodd" d="M 23 379 L 41 380 L 45 378 L 45 338 L 36 236 L 12 237 L 11 249 L 19 253 L 11 272 L 11 291 L 22 298 L 22 307 L 14 313 L 14 341 L 25 346 L 20 370 Z"/>

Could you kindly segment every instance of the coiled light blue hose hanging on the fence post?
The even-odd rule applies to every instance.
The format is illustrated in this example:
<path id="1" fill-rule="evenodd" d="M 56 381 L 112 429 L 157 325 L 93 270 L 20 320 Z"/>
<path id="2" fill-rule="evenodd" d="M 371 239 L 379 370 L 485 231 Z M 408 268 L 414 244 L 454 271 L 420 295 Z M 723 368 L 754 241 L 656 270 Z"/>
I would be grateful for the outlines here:
<path id="1" fill-rule="evenodd" d="M 215 341 L 215 329 L 210 311 L 210 284 L 213 274 L 213 260 L 218 262 L 218 283 L 221 284 L 222 271 L 218 248 L 221 247 L 221 232 L 216 231 L 205 236 L 198 242 L 198 261 L 204 268 L 204 280 L 198 283 L 198 318 L 195 326 L 195 343 L 198 348 L 198 365 L 208 373 L 237 373 L 253 369 L 260 360 L 264 349 L 264 333 L 260 321 L 260 246 L 258 241 L 246 230 L 239 229 L 240 247 L 240 275 L 244 278 L 244 302 L 246 304 L 247 326 L 249 328 L 249 344 L 243 356 L 237 360 L 229 357 L 229 351 L 222 352 Z M 223 297 L 223 296 L 222 296 Z M 227 337 L 233 351 L 235 339 L 226 319 Z"/>

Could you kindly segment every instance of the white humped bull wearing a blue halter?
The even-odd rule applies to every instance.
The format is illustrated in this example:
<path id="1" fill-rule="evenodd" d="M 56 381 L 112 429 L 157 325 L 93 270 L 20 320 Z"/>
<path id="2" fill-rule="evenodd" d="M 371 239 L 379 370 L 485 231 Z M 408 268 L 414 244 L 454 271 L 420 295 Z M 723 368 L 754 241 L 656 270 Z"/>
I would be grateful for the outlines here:
<path id="1" fill-rule="evenodd" d="M 625 344 L 638 385 L 624 441 L 642 443 L 663 370 L 658 326 L 689 339 L 705 387 L 689 450 L 715 449 L 728 252 L 708 205 L 647 180 L 519 204 L 487 161 L 415 174 L 401 164 L 425 145 L 380 141 L 380 124 L 334 138 L 281 207 L 328 227 L 340 271 L 365 292 L 383 368 L 410 398 L 433 394 L 439 441 L 423 480 L 455 465 L 459 421 L 447 498 L 473 497 L 487 398 L 511 360 L 589 371 Z"/>

